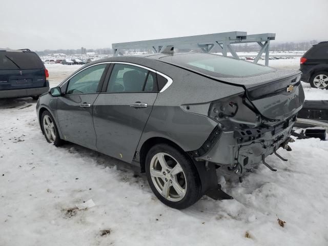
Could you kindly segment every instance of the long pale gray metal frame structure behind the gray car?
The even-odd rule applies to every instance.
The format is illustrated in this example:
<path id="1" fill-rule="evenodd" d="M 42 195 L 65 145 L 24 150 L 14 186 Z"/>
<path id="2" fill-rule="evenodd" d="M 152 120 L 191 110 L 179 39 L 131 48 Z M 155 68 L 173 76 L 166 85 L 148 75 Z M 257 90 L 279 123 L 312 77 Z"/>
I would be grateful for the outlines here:
<path id="1" fill-rule="evenodd" d="M 127 43 L 112 44 L 114 55 L 121 54 L 121 50 L 130 49 L 151 49 L 154 53 L 172 53 L 174 48 L 195 49 L 200 48 L 204 53 L 210 53 L 216 48 L 223 56 L 228 56 L 228 52 L 237 59 L 237 53 L 232 44 L 257 43 L 261 48 L 254 63 L 257 63 L 261 55 L 265 54 L 265 66 L 269 65 L 270 40 L 275 40 L 275 33 L 261 33 L 247 35 L 247 32 L 221 32 L 195 36 L 173 37 L 152 39 Z"/>

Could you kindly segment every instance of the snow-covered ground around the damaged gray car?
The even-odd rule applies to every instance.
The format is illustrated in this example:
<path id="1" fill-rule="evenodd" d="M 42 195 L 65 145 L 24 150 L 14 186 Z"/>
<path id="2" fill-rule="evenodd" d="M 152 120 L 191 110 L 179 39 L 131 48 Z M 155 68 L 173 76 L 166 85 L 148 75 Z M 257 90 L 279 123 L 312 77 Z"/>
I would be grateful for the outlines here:
<path id="1" fill-rule="evenodd" d="M 291 60 L 270 65 L 297 69 L 298 59 L 282 64 Z M 78 67 L 47 65 L 51 86 Z M 303 86 L 306 99 L 328 99 L 328 91 Z M 259 165 L 242 183 L 218 169 L 235 199 L 204 196 L 177 211 L 158 201 L 137 168 L 48 144 L 32 99 L 0 100 L 0 122 L 1 246 L 328 245 L 327 141 L 296 140 L 292 152 L 278 151 L 289 161 L 267 158 L 277 172 Z M 95 207 L 76 209 L 89 199 Z"/>

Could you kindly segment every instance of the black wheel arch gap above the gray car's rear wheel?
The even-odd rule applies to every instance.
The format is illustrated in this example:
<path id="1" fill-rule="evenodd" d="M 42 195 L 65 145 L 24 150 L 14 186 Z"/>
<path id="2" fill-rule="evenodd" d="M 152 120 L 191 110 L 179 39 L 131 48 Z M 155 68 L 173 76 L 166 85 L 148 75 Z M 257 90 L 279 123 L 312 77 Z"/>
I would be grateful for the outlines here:
<path id="1" fill-rule="evenodd" d="M 170 145 L 174 148 L 176 148 L 177 150 L 179 150 L 181 153 L 185 153 L 186 152 L 178 145 L 176 144 L 174 141 L 165 138 L 165 137 L 151 137 L 149 139 L 147 139 L 141 146 L 140 151 L 139 151 L 139 163 L 140 163 L 140 168 L 141 168 L 141 173 L 146 172 L 145 170 L 145 165 L 146 165 L 146 156 L 148 151 L 157 144 L 167 144 Z M 190 158 L 190 156 L 188 154 L 186 154 L 186 156 L 188 156 Z"/>

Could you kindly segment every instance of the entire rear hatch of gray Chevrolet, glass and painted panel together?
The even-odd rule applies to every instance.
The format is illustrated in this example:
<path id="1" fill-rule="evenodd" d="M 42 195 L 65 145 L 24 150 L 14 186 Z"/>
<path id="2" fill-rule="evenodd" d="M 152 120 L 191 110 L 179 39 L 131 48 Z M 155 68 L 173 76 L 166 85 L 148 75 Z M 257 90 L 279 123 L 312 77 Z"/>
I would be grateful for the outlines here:
<path id="1" fill-rule="evenodd" d="M 268 119 L 278 121 L 296 114 L 304 101 L 298 70 L 275 69 L 205 53 L 179 53 L 158 59 L 220 83 L 242 87 L 252 107 Z"/>

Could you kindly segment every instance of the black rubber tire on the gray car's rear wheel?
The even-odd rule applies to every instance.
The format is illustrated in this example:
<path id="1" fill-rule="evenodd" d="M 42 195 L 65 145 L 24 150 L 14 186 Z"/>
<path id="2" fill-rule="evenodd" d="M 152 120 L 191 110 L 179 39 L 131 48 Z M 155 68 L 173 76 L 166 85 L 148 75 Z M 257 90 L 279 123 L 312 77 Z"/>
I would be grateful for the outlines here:
<path id="1" fill-rule="evenodd" d="M 152 176 L 150 174 L 150 166 L 152 158 L 158 153 L 166 153 L 172 156 L 181 166 L 183 173 L 185 174 L 186 181 L 186 192 L 184 197 L 179 201 L 171 201 L 162 196 L 159 191 L 156 189 L 154 182 L 152 180 Z M 185 153 L 181 153 L 179 150 L 173 148 L 167 144 L 158 144 L 153 146 L 146 157 L 146 175 L 148 179 L 148 183 L 156 197 L 167 206 L 174 209 L 185 209 L 190 207 L 201 197 L 201 182 L 197 172 L 197 169 L 192 162 L 192 160 L 186 156 Z M 171 175 L 172 177 L 172 175 Z M 164 181 L 163 181 L 164 182 Z M 171 182 L 172 183 L 172 182 Z M 170 188 L 172 189 L 172 187 Z"/>

